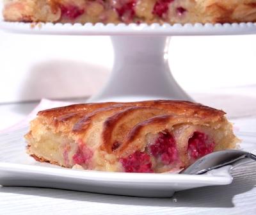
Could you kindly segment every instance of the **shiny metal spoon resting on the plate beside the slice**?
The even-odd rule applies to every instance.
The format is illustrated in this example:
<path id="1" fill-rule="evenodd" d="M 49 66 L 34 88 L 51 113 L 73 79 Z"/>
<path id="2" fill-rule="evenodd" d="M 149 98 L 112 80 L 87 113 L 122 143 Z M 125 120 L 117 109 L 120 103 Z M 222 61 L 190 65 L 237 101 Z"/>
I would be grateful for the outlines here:
<path id="1" fill-rule="evenodd" d="M 240 164 L 245 164 L 252 161 L 256 161 L 256 155 L 253 153 L 244 152 L 242 150 L 222 150 L 212 152 L 211 154 L 201 157 L 180 173 L 199 175 L 222 166 L 232 165 L 234 168 Z"/>

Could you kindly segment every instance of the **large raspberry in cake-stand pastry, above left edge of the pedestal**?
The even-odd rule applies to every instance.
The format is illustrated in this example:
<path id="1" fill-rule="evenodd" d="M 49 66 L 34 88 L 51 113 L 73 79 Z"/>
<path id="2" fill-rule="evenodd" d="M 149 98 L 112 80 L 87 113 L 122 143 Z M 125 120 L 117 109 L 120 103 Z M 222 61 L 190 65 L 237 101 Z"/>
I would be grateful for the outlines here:
<path id="1" fill-rule="evenodd" d="M 134 6 L 136 5 L 136 0 L 120 0 L 116 6 L 116 12 L 119 17 L 124 21 L 131 20 L 135 15 Z"/>

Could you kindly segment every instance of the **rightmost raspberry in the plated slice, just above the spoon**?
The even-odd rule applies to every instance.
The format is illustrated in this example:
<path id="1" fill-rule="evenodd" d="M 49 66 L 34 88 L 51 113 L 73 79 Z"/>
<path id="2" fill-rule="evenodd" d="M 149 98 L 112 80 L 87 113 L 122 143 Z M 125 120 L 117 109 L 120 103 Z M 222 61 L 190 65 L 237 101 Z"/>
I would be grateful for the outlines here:
<path id="1" fill-rule="evenodd" d="M 188 154 L 193 159 L 198 159 L 213 152 L 214 146 L 214 141 L 209 140 L 206 134 L 196 131 L 188 140 Z"/>

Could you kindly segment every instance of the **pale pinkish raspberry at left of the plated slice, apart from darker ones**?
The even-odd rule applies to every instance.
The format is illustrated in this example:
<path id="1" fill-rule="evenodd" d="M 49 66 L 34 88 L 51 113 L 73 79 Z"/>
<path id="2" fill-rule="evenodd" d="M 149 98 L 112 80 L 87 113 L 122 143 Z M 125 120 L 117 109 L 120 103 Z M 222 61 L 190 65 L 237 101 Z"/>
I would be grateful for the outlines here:
<path id="1" fill-rule="evenodd" d="M 75 164 L 88 164 L 92 159 L 92 155 L 92 150 L 86 147 L 82 140 L 79 140 L 76 154 L 73 155 L 72 159 Z"/>

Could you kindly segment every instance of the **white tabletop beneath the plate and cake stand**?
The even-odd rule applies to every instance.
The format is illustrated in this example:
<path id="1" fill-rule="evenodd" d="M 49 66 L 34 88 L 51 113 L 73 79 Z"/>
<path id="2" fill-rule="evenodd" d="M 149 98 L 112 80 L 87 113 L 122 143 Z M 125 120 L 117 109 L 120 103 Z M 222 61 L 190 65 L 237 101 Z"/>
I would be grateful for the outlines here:
<path id="1" fill-rule="evenodd" d="M 235 123 L 235 129 L 256 135 L 256 86 L 219 88 L 214 92 L 191 93 L 191 96 L 198 102 L 224 109 Z M 0 129 L 22 120 L 37 104 L 0 104 Z M 234 181 L 228 186 L 181 191 L 172 198 L 0 187 L 0 214 L 256 214 L 256 164 L 237 168 L 232 175 Z"/>

